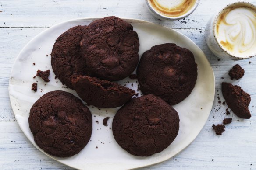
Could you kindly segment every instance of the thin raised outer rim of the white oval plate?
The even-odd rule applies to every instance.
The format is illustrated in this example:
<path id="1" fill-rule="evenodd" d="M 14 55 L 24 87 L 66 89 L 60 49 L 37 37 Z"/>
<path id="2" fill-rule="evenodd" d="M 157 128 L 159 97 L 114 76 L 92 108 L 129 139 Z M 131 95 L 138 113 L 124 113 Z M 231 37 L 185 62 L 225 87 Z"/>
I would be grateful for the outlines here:
<path id="1" fill-rule="evenodd" d="M 71 22 L 71 21 L 78 21 L 78 20 L 91 20 L 91 21 L 95 21 L 95 20 L 101 19 L 101 18 L 103 18 L 103 17 L 79 17 L 79 18 L 74 18 L 74 19 L 62 21 L 62 22 L 60 22 L 60 23 L 54 24 L 53 26 L 51 26 L 51 27 L 49 27 L 49 28 L 54 28 L 54 27 L 57 27 L 57 26 L 60 25 L 60 24 L 68 23 L 68 22 Z M 174 30 L 173 28 L 169 28 L 169 27 L 167 27 L 167 26 L 155 24 L 155 23 L 150 22 L 150 21 L 145 21 L 145 20 L 136 19 L 136 18 L 121 17 L 121 19 L 126 20 L 126 21 L 140 21 L 141 23 L 148 23 L 148 24 L 153 24 L 153 25 L 156 25 L 156 26 L 164 27 L 164 28 L 170 29 L 171 31 L 176 32 L 176 33 L 179 34 L 179 35 L 184 36 L 188 41 L 190 41 L 191 43 L 193 43 L 193 44 L 200 50 L 200 52 L 202 53 L 203 57 L 206 59 L 207 65 L 209 65 L 210 68 L 211 68 L 210 71 L 211 71 L 211 76 L 213 76 L 213 83 L 214 83 L 214 84 L 213 84 L 213 89 L 214 89 L 214 93 L 213 93 L 213 94 L 214 94 L 214 95 L 213 95 L 213 97 L 211 98 L 211 100 L 213 101 L 212 103 L 214 103 L 215 90 L 216 90 L 216 89 L 215 89 L 215 87 L 216 87 L 215 74 L 214 74 L 213 68 L 212 68 L 212 66 L 210 65 L 210 62 L 209 62 L 209 60 L 207 59 L 205 53 L 203 52 L 202 49 L 199 48 L 198 45 L 196 45 L 195 42 L 193 42 L 190 38 L 188 38 L 186 35 L 182 34 L 181 32 L 176 31 L 176 30 Z M 45 31 L 48 31 L 49 28 L 43 30 L 42 32 L 40 32 L 39 34 L 37 34 L 35 37 L 33 37 L 31 40 L 29 40 L 29 41 L 26 43 L 26 45 L 21 49 L 21 51 L 18 53 L 18 56 L 21 55 L 21 53 L 23 52 L 23 50 L 28 46 L 28 44 L 29 44 L 30 42 L 32 42 L 34 39 L 36 39 L 39 35 L 43 34 Z M 17 62 L 17 60 L 18 60 L 18 56 L 17 56 L 16 59 L 14 60 L 13 66 L 14 66 L 14 64 L 15 64 L 15 63 Z M 13 103 L 12 103 L 13 101 L 11 100 L 11 94 L 10 94 L 11 75 L 12 75 L 12 73 L 13 73 L 13 70 L 14 70 L 14 67 L 12 67 L 11 73 L 10 73 L 10 79 L 9 79 L 9 85 L 8 85 L 8 92 L 9 92 L 9 98 L 10 98 L 11 108 L 12 108 L 12 110 L 13 110 L 13 113 L 14 113 L 14 116 L 15 116 L 15 119 L 16 119 L 16 116 L 17 116 L 17 115 L 16 115 L 15 112 L 14 112 Z M 213 104 L 212 104 L 212 106 L 213 106 Z M 212 107 L 211 107 L 211 108 L 212 108 Z M 211 111 L 209 111 L 209 114 L 208 114 L 208 116 L 207 116 L 207 119 L 208 119 L 209 116 L 210 116 L 210 112 L 211 112 Z M 207 113 L 208 113 L 208 112 L 207 112 Z M 18 116 L 20 116 L 20 115 L 18 115 Z M 205 121 L 203 127 L 205 126 L 205 124 L 206 124 L 206 122 L 207 122 L 207 119 L 206 119 L 206 121 Z M 17 119 L 16 119 L 16 120 L 17 120 Z M 18 120 L 17 120 L 17 122 L 18 122 L 19 128 L 20 128 L 21 131 L 23 132 L 23 129 L 21 128 L 20 122 L 19 122 Z M 196 137 L 197 137 L 197 136 L 199 135 L 199 133 L 202 131 L 203 127 L 202 127 L 201 130 L 196 134 L 196 136 L 191 140 L 191 142 L 189 142 L 189 144 L 188 144 L 187 146 L 185 146 L 185 148 L 187 148 L 187 147 L 196 139 Z M 28 136 L 27 136 L 24 132 L 23 132 L 23 134 L 24 134 L 24 135 L 27 137 L 27 139 L 28 139 Z M 29 139 L 28 139 L 28 140 L 29 140 Z M 32 143 L 32 144 L 33 144 L 33 143 Z M 49 157 L 52 158 L 53 160 L 56 160 L 57 162 L 62 163 L 62 164 L 64 164 L 64 165 L 68 166 L 68 167 L 77 169 L 76 167 L 73 167 L 73 166 L 71 166 L 71 165 L 68 165 L 68 164 L 62 162 L 61 160 L 58 160 L 57 158 L 59 158 L 59 157 L 55 157 L 55 156 L 52 156 L 52 155 L 50 155 L 50 154 L 44 152 L 43 149 L 39 148 L 39 146 L 34 145 L 34 144 L 33 144 L 33 146 L 35 146 L 36 149 L 38 149 L 40 152 L 46 154 L 46 156 L 49 156 Z M 183 148 L 183 149 L 181 149 L 180 151 L 178 151 L 178 153 L 181 153 L 181 151 L 183 151 L 185 148 Z M 138 169 L 138 168 L 142 168 L 142 167 L 149 167 L 149 166 L 156 165 L 156 164 L 158 164 L 158 163 L 163 163 L 164 161 L 171 159 L 172 157 L 174 157 L 174 156 L 177 155 L 178 153 L 174 154 L 174 155 L 171 156 L 171 157 L 164 158 L 163 160 L 161 160 L 161 161 L 159 161 L 159 162 L 157 162 L 157 163 L 150 163 L 150 164 L 145 165 L 145 166 L 140 166 L 140 167 L 131 168 L 130 170 L 134 170 L 134 169 Z"/>

